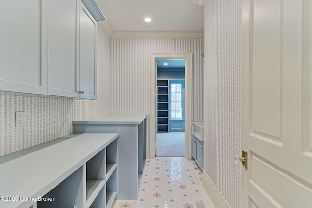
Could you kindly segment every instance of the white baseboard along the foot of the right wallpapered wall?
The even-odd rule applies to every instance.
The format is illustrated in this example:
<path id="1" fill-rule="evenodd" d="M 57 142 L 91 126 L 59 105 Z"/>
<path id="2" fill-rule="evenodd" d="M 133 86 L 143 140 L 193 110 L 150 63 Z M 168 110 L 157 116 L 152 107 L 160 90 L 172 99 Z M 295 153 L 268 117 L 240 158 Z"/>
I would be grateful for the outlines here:
<path id="1" fill-rule="evenodd" d="M 211 202 L 214 204 L 215 208 L 231 208 L 220 191 L 215 187 L 215 184 L 211 181 L 207 173 L 204 171 L 203 176 L 202 186 L 208 194 Z"/>

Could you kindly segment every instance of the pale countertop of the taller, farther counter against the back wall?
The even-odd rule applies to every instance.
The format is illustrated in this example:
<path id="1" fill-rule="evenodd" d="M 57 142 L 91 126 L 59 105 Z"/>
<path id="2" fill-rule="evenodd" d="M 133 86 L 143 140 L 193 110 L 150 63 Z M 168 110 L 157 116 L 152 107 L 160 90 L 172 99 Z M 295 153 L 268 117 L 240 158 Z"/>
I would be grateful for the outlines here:
<path id="1" fill-rule="evenodd" d="M 73 121 L 73 124 L 140 124 L 147 115 L 104 115 Z"/>

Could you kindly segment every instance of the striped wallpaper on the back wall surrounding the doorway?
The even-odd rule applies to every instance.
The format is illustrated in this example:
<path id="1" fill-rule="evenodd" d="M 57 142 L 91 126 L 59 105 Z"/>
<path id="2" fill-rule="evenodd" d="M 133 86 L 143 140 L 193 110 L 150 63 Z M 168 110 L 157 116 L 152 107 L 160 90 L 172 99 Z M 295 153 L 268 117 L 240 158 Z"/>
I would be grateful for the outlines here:
<path id="1" fill-rule="evenodd" d="M 112 38 L 111 112 L 148 114 L 151 53 L 193 53 L 192 120 L 203 121 L 203 38 Z"/>

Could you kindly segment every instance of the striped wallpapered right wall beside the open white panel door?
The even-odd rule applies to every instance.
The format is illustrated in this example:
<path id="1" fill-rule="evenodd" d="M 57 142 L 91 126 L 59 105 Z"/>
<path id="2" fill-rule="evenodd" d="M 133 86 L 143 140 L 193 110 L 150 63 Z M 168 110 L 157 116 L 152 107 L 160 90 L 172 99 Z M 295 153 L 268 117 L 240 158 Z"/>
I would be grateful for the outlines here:
<path id="1" fill-rule="evenodd" d="M 241 0 L 205 4 L 204 172 L 239 208 Z"/>

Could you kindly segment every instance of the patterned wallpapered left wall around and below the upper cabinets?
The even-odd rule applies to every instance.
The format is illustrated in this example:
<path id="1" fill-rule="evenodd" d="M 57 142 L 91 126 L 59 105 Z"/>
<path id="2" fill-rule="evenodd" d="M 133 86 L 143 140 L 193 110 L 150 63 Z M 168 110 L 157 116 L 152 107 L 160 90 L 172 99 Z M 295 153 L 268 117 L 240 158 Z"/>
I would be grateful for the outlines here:
<path id="1" fill-rule="evenodd" d="M 72 121 L 110 113 L 110 38 L 98 25 L 98 99 L 0 95 L 0 156 L 73 132 Z M 26 124 L 15 127 L 15 112 Z"/>

